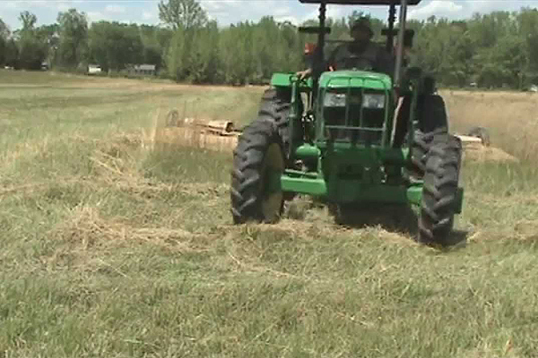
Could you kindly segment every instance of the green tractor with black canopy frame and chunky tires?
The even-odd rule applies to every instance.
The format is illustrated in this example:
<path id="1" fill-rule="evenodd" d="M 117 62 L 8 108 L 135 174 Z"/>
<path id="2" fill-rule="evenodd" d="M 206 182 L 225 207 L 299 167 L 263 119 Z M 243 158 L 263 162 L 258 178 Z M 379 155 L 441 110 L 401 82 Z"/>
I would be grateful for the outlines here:
<path id="1" fill-rule="evenodd" d="M 231 170 L 234 223 L 274 223 L 285 200 L 303 194 L 337 209 L 414 207 L 418 241 L 450 243 L 463 207 L 462 144 L 448 132 L 435 81 L 403 65 L 407 9 L 421 0 L 299 1 L 320 4 L 318 26 L 299 29 L 317 34 L 312 76 L 274 73 L 256 120 L 241 133 Z M 388 6 L 383 33 L 393 73 L 325 68 L 327 4 Z"/>

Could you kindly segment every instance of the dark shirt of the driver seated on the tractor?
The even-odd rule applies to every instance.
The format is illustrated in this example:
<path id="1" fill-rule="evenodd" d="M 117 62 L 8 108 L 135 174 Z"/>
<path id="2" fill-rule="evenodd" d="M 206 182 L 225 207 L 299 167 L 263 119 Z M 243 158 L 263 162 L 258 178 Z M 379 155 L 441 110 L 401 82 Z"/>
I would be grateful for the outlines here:
<path id="1" fill-rule="evenodd" d="M 328 65 L 334 70 L 357 69 L 362 71 L 385 72 L 390 74 L 391 61 L 384 49 L 376 43 L 369 42 L 364 48 L 356 48 L 353 43 L 345 43 L 336 47 L 331 54 Z"/>

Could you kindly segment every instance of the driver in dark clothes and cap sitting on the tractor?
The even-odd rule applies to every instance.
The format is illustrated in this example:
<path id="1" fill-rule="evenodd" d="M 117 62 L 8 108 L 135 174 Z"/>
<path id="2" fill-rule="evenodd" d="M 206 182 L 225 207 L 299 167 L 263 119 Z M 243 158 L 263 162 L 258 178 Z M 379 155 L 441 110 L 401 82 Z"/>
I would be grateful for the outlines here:
<path id="1" fill-rule="evenodd" d="M 363 70 L 392 75 L 394 62 L 385 48 L 372 41 L 374 32 L 367 17 L 361 17 L 351 26 L 353 41 L 336 47 L 327 61 L 330 70 Z M 301 79 L 308 77 L 312 68 L 298 72 Z"/>

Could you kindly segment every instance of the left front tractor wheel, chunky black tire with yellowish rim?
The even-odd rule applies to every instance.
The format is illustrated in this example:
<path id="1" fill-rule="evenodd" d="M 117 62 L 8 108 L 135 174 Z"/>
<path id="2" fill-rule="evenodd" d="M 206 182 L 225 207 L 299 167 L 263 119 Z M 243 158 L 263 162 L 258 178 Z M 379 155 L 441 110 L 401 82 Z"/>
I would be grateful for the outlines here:
<path id="1" fill-rule="evenodd" d="M 231 214 L 234 224 L 272 223 L 282 215 L 283 193 L 267 192 L 269 174 L 283 173 L 285 158 L 276 125 L 258 118 L 247 125 L 234 150 Z"/>

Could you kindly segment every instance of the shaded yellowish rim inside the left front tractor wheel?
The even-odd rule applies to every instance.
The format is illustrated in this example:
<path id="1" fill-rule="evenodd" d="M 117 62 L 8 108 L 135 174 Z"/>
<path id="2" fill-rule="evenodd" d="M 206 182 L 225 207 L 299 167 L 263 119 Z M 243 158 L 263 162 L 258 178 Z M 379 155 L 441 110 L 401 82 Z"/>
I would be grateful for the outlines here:
<path id="1" fill-rule="evenodd" d="M 267 149 L 262 166 L 262 214 L 265 221 L 272 222 L 282 211 L 282 188 L 280 176 L 284 171 L 282 149 L 273 143 Z"/>

